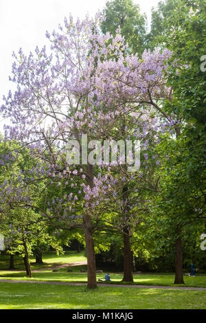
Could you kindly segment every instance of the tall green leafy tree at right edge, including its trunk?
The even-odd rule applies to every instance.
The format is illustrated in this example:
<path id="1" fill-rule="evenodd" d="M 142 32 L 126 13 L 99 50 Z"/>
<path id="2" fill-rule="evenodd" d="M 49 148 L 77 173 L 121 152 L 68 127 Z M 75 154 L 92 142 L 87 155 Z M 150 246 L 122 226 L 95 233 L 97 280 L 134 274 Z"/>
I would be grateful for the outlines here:
<path id="1" fill-rule="evenodd" d="M 168 85 L 173 93 L 163 109 L 182 125 L 175 139 L 165 137 L 159 146 L 165 160 L 159 207 L 172 216 L 171 226 L 176 227 L 175 282 L 183 283 L 183 236 L 189 223 L 196 232 L 205 217 L 205 74 L 200 67 L 205 52 L 204 3 L 179 1 L 167 30 L 164 42 L 173 54 Z"/>

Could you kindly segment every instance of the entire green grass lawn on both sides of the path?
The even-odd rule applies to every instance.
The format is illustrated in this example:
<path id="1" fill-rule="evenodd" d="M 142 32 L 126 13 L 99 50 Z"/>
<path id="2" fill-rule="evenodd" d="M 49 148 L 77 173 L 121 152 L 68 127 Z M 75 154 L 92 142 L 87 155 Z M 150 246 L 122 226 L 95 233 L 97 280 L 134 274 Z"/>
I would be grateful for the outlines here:
<path id="1" fill-rule="evenodd" d="M 3 282 L 10 280 L 41 280 L 50 282 L 87 282 L 87 265 L 67 267 L 52 272 L 51 267 L 86 260 L 84 252 L 66 252 L 56 256 L 54 252 L 43 255 L 43 265 L 36 265 L 32 259 L 32 278 L 25 276 L 25 268 L 20 257 L 15 256 L 16 270 L 8 271 L 9 256 L 0 256 L 0 309 L 205 309 L 206 291 L 174 289 L 141 289 L 114 287 L 121 282 L 123 274 L 111 273 L 111 286 L 99 286 L 97 290 L 87 290 L 87 285 L 47 285 L 26 282 Z M 104 278 L 105 273 L 97 274 Z M 184 277 L 185 287 L 206 287 L 206 276 Z M 133 285 L 174 286 L 174 274 L 134 275 Z M 104 284 L 104 282 L 101 282 Z"/>

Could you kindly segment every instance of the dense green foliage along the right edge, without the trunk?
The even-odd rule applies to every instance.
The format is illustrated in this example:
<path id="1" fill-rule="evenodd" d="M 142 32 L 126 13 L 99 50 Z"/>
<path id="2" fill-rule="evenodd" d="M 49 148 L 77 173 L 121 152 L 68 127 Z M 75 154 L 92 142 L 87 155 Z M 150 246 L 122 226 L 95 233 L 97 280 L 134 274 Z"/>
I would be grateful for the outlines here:
<path id="1" fill-rule="evenodd" d="M 192 258 L 202 268 L 205 266 L 201 264 L 200 236 L 205 230 L 206 73 L 201 71 L 200 62 L 205 54 L 205 12 L 203 1 L 179 1 L 178 8 L 167 19 L 164 44 L 173 53 L 167 74 L 173 93 L 163 109 L 178 120 L 175 126 L 179 131 L 173 136 L 165 133 L 157 146 L 161 180 L 148 219 L 154 221 L 148 238 L 152 236 L 155 240 L 155 253 L 164 254 L 181 234 L 184 265 Z"/>

